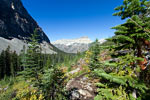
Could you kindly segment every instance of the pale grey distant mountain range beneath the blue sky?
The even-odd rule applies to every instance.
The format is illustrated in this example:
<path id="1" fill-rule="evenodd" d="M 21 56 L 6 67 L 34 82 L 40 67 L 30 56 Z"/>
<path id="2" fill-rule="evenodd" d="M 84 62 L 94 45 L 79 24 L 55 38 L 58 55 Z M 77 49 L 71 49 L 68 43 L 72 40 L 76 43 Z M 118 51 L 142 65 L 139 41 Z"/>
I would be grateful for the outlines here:
<path id="1" fill-rule="evenodd" d="M 100 39 L 99 43 L 104 43 L 105 39 Z M 67 52 L 67 53 L 78 53 L 88 50 L 90 44 L 93 41 L 90 40 L 88 37 L 81 37 L 77 39 L 62 39 L 52 42 L 54 46 L 58 49 Z"/>

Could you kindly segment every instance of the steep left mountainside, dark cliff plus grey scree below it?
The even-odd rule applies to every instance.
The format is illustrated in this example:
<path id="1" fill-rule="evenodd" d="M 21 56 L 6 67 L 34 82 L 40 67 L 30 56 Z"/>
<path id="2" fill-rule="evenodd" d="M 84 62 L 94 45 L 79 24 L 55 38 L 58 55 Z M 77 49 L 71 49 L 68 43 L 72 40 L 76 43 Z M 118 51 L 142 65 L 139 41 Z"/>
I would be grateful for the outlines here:
<path id="1" fill-rule="evenodd" d="M 53 48 L 50 40 L 28 14 L 21 0 L 0 0 L 0 51 L 10 45 L 12 50 L 19 52 L 35 29 L 38 30 L 40 43 L 46 43 L 46 50 L 53 53 L 50 52 Z"/>

